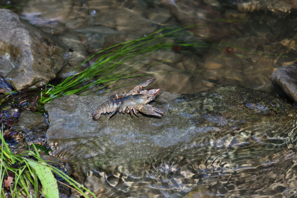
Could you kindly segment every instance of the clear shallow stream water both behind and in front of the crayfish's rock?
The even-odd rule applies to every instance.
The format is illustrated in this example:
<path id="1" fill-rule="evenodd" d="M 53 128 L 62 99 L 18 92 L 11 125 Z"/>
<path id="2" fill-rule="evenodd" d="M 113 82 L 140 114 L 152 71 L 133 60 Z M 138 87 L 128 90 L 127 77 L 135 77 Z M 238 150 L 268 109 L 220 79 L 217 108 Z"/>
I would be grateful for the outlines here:
<path id="1" fill-rule="evenodd" d="M 224 5 L 215 2 L 29 0 L 18 11 L 23 19 L 71 44 L 75 53 L 69 59 L 68 68 L 76 67 L 98 49 L 140 38 L 163 26 L 203 24 L 206 26 L 193 28 L 190 32 L 209 43 L 221 45 L 199 54 L 174 50 L 151 54 L 146 63 L 170 60 L 161 66 L 143 66 L 142 71 L 172 72 L 152 74 L 150 77 L 157 79 L 154 87 L 162 87 L 164 81 L 165 91 L 194 93 L 218 85 L 239 83 L 273 92 L 272 72 L 296 62 L 296 10 L 285 14 L 264 8 L 240 12 L 231 6 L 233 1 Z M 233 49 L 228 51 L 228 46 Z M 115 86 L 142 80 L 119 81 Z M 122 90 L 130 89 L 125 87 Z M 279 130 L 284 129 L 280 126 Z M 94 170 L 92 174 L 101 175 L 102 181 L 92 177 L 88 180 L 94 180 L 96 188 L 102 189 L 102 197 L 141 197 L 140 189 L 147 189 L 143 186 L 150 186 L 151 195 L 156 197 L 181 197 L 197 185 L 221 197 L 246 197 L 247 194 L 251 197 L 294 197 L 297 186 L 296 125 L 284 133 L 288 135 L 237 148 L 198 148 L 197 159 L 164 159 L 148 164 L 147 172 L 133 170 L 135 175 L 129 177 L 120 175 L 120 171 Z M 154 190 L 157 188 L 162 190 Z"/>

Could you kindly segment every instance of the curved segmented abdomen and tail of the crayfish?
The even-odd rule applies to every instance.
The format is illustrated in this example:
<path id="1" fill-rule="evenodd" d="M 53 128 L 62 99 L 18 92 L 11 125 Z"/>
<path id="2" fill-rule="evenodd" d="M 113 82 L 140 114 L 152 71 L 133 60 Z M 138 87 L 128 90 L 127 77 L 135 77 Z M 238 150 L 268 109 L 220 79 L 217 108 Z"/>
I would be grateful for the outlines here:
<path id="1" fill-rule="evenodd" d="M 94 112 L 93 119 L 98 120 L 101 114 L 109 114 L 114 112 L 118 107 L 120 107 L 122 99 L 111 99 L 102 103 Z"/>

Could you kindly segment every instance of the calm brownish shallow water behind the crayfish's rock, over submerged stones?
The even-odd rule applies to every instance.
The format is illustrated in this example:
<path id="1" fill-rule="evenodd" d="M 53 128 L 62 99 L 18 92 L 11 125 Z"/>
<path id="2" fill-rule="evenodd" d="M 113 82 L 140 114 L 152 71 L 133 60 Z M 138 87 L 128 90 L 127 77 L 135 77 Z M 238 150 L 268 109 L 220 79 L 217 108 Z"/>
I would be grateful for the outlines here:
<path id="1" fill-rule="evenodd" d="M 292 5 L 287 12 L 273 13 L 269 3 L 259 7 L 260 0 L 257 2 L 226 1 L 219 5 L 216 0 L 30 0 L 19 14 L 43 31 L 59 36 L 74 50 L 64 72 L 79 65 L 88 54 L 141 38 L 161 27 L 204 25 L 190 28 L 189 32 L 193 39 L 201 37 L 218 44 L 217 48 L 200 54 L 195 49 L 192 53 L 159 50 L 144 62 L 169 60 L 160 66 L 144 65 L 141 71 L 171 72 L 151 76 L 159 80 L 155 86 L 162 87 L 164 81 L 165 90 L 175 93 L 194 93 L 229 83 L 273 92 L 272 72 L 296 61 L 296 10 Z M 252 10 L 254 4 L 259 8 L 240 12 L 234 7 L 236 3 L 240 11 L 243 6 Z M 228 46 L 231 50 L 226 50 Z M 132 81 L 141 80 L 118 83 Z"/>

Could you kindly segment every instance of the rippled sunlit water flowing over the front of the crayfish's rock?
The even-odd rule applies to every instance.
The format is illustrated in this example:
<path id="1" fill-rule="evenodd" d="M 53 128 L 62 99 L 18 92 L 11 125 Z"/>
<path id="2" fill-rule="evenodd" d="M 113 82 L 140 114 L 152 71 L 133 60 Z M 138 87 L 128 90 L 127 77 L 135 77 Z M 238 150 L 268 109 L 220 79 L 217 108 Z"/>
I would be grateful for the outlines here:
<path id="1" fill-rule="evenodd" d="M 137 169 L 92 169 L 85 182 L 101 192 L 99 197 L 111 198 L 182 197 L 196 186 L 221 197 L 295 197 L 297 128 L 284 133 L 289 136 L 262 143 L 236 145 L 222 140 L 223 145 L 188 145 L 184 152 L 192 148 L 196 158 L 167 159 L 166 153 L 159 153 L 159 160 Z"/>

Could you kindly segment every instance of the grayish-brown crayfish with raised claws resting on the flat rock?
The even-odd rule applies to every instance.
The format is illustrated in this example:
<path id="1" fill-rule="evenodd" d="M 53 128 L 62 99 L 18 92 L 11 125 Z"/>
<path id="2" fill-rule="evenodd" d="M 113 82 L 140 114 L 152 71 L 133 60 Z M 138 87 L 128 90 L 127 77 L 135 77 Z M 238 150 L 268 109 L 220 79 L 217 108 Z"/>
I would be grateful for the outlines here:
<path id="1" fill-rule="evenodd" d="M 148 84 L 154 80 L 156 79 L 148 79 L 147 81 L 135 86 L 128 93 L 125 92 L 122 95 L 113 95 L 110 100 L 101 104 L 93 112 L 93 119 L 98 120 L 101 114 L 111 113 L 108 117 L 109 119 L 116 112 L 131 114 L 131 116 L 135 114 L 139 119 L 140 117 L 137 115 L 139 112 L 147 115 L 162 116 L 161 114 L 163 114 L 163 112 L 160 109 L 148 104 L 148 102 L 154 100 L 162 92 L 162 89 L 143 89 L 143 87 L 148 86 Z"/>

